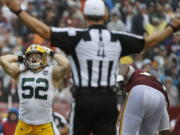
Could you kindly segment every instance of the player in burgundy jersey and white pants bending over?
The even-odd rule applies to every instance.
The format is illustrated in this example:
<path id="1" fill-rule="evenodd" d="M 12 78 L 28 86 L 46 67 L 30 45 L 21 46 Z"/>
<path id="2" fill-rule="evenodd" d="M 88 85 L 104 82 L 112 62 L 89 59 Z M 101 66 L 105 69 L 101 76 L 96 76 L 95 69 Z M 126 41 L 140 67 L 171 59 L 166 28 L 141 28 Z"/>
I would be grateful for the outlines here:
<path id="1" fill-rule="evenodd" d="M 122 65 L 117 84 L 122 85 L 128 96 L 120 117 L 120 135 L 169 134 L 169 100 L 165 87 L 150 73 Z M 119 86 L 121 87 L 121 86 Z"/>

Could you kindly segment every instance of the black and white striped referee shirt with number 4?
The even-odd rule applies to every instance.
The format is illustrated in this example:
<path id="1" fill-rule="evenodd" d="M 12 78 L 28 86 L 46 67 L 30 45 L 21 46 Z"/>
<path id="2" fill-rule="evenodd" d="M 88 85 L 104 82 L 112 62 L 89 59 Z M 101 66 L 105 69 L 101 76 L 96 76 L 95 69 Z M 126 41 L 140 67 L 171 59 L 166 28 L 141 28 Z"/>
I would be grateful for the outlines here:
<path id="1" fill-rule="evenodd" d="M 119 58 L 141 52 L 145 40 L 92 25 L 87 29 L 52 27 L 51 43 L 68 55 L 75 86 L 106 87 L 115 85 Z"/>

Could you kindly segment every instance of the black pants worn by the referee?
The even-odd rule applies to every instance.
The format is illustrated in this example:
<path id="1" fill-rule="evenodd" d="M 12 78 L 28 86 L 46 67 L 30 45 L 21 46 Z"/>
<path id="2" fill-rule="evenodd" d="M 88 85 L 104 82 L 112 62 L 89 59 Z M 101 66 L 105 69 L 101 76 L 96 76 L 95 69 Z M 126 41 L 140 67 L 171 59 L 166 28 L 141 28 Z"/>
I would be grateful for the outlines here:
<path id="1" fill-rule="evenodd" d="M 71 112 L 70 135 L 116 135 L 116 96 L 110 89 L 77 90 Z M 98 91 L 99 90 L 99 91 Z"/>

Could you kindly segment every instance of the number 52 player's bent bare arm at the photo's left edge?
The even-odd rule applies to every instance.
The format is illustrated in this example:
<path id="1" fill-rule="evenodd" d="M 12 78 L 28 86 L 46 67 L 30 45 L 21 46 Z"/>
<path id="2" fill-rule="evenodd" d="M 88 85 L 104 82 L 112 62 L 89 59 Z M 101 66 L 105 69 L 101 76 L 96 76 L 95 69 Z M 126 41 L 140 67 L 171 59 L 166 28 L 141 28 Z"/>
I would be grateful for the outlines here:
<path id="1" fill-rule="evenodd" d="M 15 80 L 17 80 L 20 71 L 17 61 L 17 55 L 4 55 L 0 57 L 0 64 L 3 70 Z"/>

